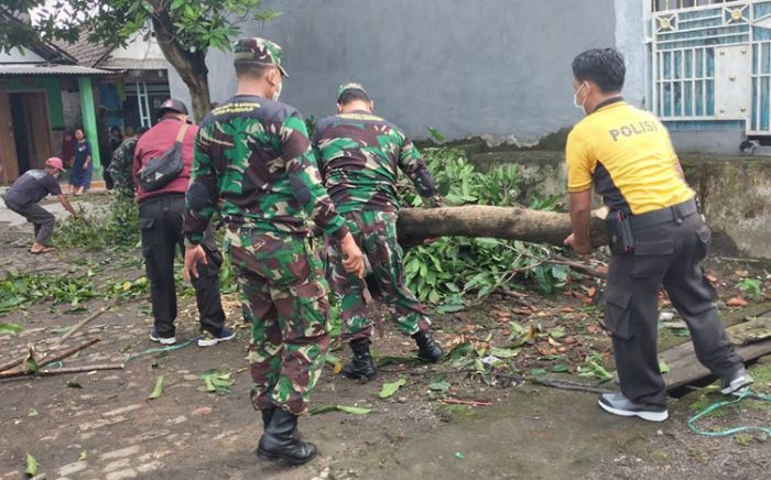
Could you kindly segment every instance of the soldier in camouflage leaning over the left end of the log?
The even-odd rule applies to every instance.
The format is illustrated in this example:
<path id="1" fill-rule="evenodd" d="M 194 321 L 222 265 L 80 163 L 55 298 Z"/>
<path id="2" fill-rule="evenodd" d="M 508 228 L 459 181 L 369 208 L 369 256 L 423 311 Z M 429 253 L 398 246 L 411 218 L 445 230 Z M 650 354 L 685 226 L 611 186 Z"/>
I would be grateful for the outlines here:
<path id="1" fill-rule="evenodd" d="M 337 108 L 339 114 L 318 122 L 313 141 L 325 186 L 365 251 L 399 330 L 415 339 L 421 359 L 438 361 L 442 349 L 427 331 L 431 321 L 423 306 L 404 284 L 403 252 L 397 241 L 398 170 L 428 206 L 442 200 L 434 179 L 404 133 L 372 114 L 373 102 L 361 85 L 341 86 Z M 354 361 L 343 372 L 371 380 L 377 371 L 369 352 L 372 321 L 366 313 L 366 283 L 346 273 L 336 246 L 328 244 L 325 253 L 326 275 L 340 305 L 343 338 L 354 351 Z"/>

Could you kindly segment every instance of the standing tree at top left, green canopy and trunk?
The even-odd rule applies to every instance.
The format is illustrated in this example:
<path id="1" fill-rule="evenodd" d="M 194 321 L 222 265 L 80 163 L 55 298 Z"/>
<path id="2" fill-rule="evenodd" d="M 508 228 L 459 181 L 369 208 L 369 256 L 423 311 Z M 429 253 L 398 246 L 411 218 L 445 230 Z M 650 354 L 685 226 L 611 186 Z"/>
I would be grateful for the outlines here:
<path id="1" fill-rule="evenodd" d="M 208 50 L 230 50 L 249 20 L 280 13 L 262 0 L 6 0 L 0 9 L 19 22 L 0 22 L 0 47 L 8 52 L 33 41 L 124 45 L 135 33 L 153 32 L 166 59 L 191 90 L 198 119 L 209 108 Z"/>

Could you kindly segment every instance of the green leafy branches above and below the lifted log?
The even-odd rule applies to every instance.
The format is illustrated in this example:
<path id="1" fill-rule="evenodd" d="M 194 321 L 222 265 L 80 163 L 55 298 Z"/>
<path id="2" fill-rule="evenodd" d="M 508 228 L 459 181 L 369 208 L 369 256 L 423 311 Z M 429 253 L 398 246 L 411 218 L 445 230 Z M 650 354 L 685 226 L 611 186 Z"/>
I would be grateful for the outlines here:
<path id="1" fill-rule="evenodd" d="M 478 204 L 518 207 L 522 179 L 515 165 L 503 165 L 489 174 L 478 172 L 463 151 L 439 146 L 425 149 L 428 170 L 434 175 L 447 206 Z M 421 198 L 403 182 L 405 204 L 417 207 Z M 531 207 L 554 209 L 555 198 L 533 200 Z M 514 288 L 522 282 L 544 293 L 564 285 L 571 274 L 564 265 L 544 263 L 553 248 L 488 238 L 442 238 L 409 251 L 405 276 L 422 302 L 443 303 L 442 312 L 463 309 L 463 297 L 476 293 L 482 298 L 496 288 Z"/>

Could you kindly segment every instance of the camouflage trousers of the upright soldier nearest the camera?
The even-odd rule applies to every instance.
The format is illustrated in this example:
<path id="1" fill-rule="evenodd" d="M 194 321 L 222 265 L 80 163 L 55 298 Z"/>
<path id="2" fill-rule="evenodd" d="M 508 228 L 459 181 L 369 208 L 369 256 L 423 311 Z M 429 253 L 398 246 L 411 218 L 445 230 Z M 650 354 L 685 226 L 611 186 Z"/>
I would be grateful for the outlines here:
<path id="1" fill-rule="evenodd" d="M 303 414 L 329 347 L 321 260 L 307 239 L 290 233 L 228 229 L 226 247 L 252 326 L 252 404 Z"/>

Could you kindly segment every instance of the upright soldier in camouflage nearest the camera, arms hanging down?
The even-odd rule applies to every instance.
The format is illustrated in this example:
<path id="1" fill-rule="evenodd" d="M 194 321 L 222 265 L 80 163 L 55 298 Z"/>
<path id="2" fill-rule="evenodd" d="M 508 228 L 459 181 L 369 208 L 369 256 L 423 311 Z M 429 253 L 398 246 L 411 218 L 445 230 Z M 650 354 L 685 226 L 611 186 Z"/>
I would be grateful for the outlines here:
<path id="1" fill-rule="evenodd" d="M 235 58 L 238 94 L 204 119 L 196 138 L 185 274 L 195 276 L 204 258 L 197 243 L 218 209 L 252 324 L 252 403 L 264 423 L 258 456 L 298 465 L 316 455 L 300 439 L 297 416 L 307 411 L 329 343 L 328 285 L 305 218 L 339 246 L 347 272 L 363 275 L 363 259 L 324 189 L 303 118 L 278 101 L 281 47 L 242 39 Z"/>

